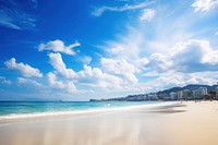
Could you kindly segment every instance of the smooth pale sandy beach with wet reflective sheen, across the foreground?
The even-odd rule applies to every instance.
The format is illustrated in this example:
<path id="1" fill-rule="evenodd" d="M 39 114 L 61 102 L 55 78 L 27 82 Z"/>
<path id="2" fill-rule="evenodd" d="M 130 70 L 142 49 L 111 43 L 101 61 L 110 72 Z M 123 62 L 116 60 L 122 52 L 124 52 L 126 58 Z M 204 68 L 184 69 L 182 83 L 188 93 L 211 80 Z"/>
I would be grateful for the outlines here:
<path id="1" fill-rule="evenodd" d="M 218 145 L 218 101 L 0 123 L 0 145 Z"/>

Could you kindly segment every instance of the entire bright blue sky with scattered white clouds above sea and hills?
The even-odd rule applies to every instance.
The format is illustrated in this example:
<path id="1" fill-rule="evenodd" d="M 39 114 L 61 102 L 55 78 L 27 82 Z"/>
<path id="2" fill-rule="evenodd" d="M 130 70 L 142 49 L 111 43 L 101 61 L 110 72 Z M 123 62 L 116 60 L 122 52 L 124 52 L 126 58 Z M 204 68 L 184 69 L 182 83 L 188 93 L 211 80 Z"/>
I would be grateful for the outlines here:
<path id="1" fill-rule="evenodd" d="M 218 82 L 218 0 L 0 0 L 0 100 Z"/>

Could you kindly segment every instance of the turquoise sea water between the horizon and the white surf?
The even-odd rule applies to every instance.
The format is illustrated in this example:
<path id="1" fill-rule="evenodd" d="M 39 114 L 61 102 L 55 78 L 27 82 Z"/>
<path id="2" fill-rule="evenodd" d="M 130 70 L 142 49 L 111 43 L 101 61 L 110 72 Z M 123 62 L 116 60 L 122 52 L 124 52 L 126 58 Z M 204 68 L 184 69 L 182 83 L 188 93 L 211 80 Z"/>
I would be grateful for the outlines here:
<path id="1" fill-rule="evenodd" d="M 157 101 L 71 101 L 71 102 L 25 102 L 0 101 L 0 117 L 14 114 L 32 114 L 45 112 L 63 112 L 76 110 L 90 110 L 100 108 L 129 107 L 158 104 Z"/>

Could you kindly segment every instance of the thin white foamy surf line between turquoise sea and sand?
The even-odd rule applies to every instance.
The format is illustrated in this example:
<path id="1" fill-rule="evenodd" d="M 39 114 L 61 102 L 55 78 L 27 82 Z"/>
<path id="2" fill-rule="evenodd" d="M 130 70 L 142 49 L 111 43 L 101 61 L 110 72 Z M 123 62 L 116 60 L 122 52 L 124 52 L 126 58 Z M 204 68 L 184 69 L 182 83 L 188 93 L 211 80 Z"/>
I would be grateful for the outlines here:
<path id="1" fill-rule="evenodd" d="M 181 101 L 161 101 L 157 104 L 146 104 L 146 105 L 133 105 L 133 106 L 122 106 L 122 107 L 99 107 L 94 109 L 84 109 L 84 110 L 69 110 L 69 111 L 45 111 L 45 112 L 34 112 L 34 113 L 16 113 L 16 114 L 7 114 L 0 116 L 0 125 L 11 122 L 21 122 L 21 121 L 32 121 L 35 119 L 46 120 L 46 119 L 61 119 L 64 117 L 77 117 L 77 116 L 88 116 L 95 113 L 108 113 L 114 111 L 125 111 L 140 108 L 155 108 L 161 106 L 171 106 L 174 104 L 181 104 Z"/>

